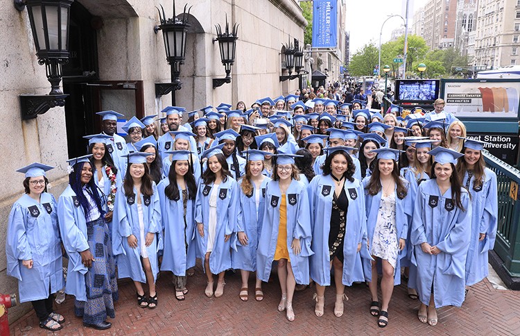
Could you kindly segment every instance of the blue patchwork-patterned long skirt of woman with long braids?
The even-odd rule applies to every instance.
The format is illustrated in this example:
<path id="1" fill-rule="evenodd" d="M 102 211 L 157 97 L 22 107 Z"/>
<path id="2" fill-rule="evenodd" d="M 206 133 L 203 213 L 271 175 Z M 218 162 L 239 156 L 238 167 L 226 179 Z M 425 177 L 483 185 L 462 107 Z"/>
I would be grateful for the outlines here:
<path id="1" fill-rule="evenodd" d="M 87 302 L 74 301 L 74 313 L 83 317 L 86 324 L 105 321 L 107 316 L 116 317 L 114 301 L 119 298 L 116 264 L 112 255 L 110 231 L 103 217 L 87 223 L 87 240 L 94 255 L 92 267 L 85 274 Z"/>

